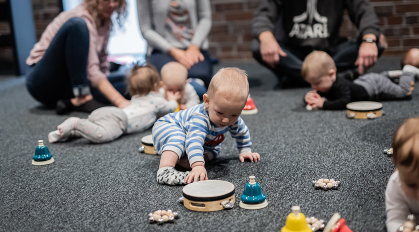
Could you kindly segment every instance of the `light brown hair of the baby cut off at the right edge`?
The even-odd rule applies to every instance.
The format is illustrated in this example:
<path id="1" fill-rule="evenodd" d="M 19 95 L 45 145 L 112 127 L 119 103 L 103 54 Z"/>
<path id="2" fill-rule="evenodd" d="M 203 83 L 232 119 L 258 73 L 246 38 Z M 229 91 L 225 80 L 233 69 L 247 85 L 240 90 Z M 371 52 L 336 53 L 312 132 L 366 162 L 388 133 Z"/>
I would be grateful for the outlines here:
<path id="1" fill-rule="evenodd" d="M 419 168 L 419 117 L 405 120 L 394 132 L 392 148 L 398 168 Z"/>

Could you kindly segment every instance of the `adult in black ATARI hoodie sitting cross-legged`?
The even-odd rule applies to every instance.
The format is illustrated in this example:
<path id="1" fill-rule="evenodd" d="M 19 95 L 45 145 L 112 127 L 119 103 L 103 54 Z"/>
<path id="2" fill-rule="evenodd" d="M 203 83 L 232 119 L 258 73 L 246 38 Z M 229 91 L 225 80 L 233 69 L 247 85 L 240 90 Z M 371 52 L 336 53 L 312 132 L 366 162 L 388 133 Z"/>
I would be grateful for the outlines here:
<path id="1" fill-rule="evenodd" d="M 344 10 L 359 30 L 352 40 L 339 36 Z M 291 85 L 307 85 L 301 65 L 307 54 L 322 50 L 337 71 L 364 73 L 383 48 L 380 27 L 368 0 L 262 0 L 252 21 L 253 56 Z"/>

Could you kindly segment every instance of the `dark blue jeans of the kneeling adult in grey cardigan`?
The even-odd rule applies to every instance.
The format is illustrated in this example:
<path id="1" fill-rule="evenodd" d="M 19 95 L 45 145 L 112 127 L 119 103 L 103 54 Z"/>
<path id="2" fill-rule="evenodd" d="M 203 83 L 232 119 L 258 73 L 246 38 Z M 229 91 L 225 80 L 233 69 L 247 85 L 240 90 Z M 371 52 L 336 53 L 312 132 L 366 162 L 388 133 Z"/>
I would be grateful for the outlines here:
<path id="1" fill-rule="evenodd" d="M 187 72 L 187 78 L 198 78 L 203 80 L 205 86 L 208 87 L 211 78 L 213 78 L 213 64 L 211 63 L 211 57 L 206 50 L 200 50 L 204 57 L 204 61 L 195 63 Z M 166 54 L 160 50 L 154 50 L 150 55 L 146 57 L 147 61 L 153 64 L 160 72 L 161 67 L 164 64 L 176 61 L 171 55 Z M 196 93 L 202 97 L 206 93 L 206 89 L 202 86 L 194 86 Z"/>

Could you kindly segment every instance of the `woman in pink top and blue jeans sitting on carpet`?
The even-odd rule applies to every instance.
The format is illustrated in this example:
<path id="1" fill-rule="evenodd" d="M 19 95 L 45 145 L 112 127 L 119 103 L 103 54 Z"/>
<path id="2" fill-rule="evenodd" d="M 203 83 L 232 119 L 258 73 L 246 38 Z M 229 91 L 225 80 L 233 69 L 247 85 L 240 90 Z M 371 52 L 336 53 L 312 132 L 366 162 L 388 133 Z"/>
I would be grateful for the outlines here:
<path id="1" fill-rule="evenodd" d="M 125 0 L 84 0 L 76 8 L 60 13 L 45 29 L 26 60 L 31 66 L 27 88 L 58 114 L 71 110 L 91 112 L 113 103 L 123 108 L 129 100 L 125 79 L 108 80 L 106 46 L 112 29 L 111 15 L 125 17 Z M 102 101 L 99 103 L 93 99 Z"/>

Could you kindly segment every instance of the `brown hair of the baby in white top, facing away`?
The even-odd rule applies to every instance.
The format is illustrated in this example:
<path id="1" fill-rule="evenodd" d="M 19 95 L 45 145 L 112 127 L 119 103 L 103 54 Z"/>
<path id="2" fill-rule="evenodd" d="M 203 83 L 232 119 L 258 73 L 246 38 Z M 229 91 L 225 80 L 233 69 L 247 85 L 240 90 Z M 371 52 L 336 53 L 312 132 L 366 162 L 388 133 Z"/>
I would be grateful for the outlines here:
<path id="1" fill-rule="evenodd" d="M 151 63 L 135 64 L 128 78 L 128 92 L 133 95 L 144 95 L 155 90 L 160 81 L 157 69 Z"/>

